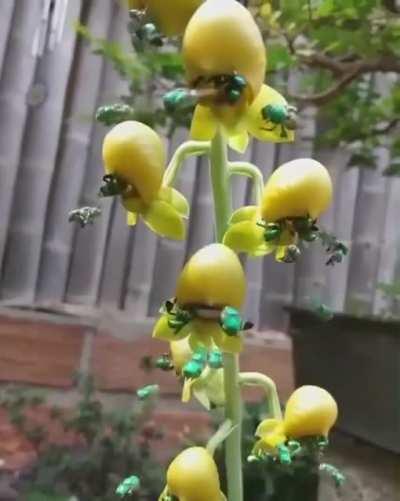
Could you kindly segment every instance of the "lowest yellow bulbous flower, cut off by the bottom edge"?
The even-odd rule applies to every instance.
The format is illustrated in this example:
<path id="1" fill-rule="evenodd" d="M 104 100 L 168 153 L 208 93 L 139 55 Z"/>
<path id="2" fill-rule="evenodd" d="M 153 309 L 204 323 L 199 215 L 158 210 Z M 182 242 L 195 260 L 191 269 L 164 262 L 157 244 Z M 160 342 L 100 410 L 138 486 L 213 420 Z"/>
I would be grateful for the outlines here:
<path id="1" fill-rule="evenodd" d="M 179 501 L 224 501 L 217 465 L 204 447 L 189 447 L 169 465 L 167 487 L 159 501 L 167 494 Z"/>

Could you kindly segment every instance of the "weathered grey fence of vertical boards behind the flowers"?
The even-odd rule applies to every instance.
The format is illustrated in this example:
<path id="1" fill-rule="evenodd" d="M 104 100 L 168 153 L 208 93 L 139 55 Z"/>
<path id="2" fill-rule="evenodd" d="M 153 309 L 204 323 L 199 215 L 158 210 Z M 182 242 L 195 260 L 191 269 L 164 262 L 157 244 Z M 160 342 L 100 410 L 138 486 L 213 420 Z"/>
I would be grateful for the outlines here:
<path id="1" fill-rule="evenodd" d="M 65 28 L 57 41 L 63 9 Z M 115 1 L 0 2 L 1 304 L 124 309 L 144 318 L 173 295 L 185 259 L 212 240 L 208 169 L 204 160 L 191 160 L 180 181 L 192 205 L 184 243 L 159 240 L 142 225 L 129 229 L 115 201 L 103 203 L 103 215 L 92 227 L 68 222 L 69 210 L 97 203 L 105 128 L 93 115 L 125 85 L 77 37 L 77 19 L 96 36 L 128 45 L 126 12 Z M 296 157 L 322 161 L 336 188 L 322 225 L 351 242 L 351 254 L 334 268 L 324 266 L 319 245 L 296 265 L 270 257 L 247 260 L 248 313 L 262 327 L 281 328 L 283 304 L 313 298 L 337 310 L 377 313 L 383 299 L 376 284 L 390 282 L 400 271 L 400 181 L 382 177 L 379 169 L 346 170 L 339 146 L 313 151 L 314 111 L 305 110 L 301 119 L 294 145 L 257 143 L 246 157 L 264 175 Z M 176 135 L 171 151 L 186 134 Z M 383 167 L 388 152 L 378 154 Z M 236 206 L 248 201 L 246 181 L 235 180 L 233 191 Z"/>

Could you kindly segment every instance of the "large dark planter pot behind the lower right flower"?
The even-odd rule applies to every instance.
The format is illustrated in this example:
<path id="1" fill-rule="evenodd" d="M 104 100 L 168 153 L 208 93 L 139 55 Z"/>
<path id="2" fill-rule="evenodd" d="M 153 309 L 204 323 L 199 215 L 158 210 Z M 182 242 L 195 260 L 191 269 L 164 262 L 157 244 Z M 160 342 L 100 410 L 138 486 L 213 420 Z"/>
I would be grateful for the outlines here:
<path id="1" fill-rule="evenodd" d="M 288 311 L 296 386 L 326 388 L 339 430 L 400 453 L 400 322 Z"/>

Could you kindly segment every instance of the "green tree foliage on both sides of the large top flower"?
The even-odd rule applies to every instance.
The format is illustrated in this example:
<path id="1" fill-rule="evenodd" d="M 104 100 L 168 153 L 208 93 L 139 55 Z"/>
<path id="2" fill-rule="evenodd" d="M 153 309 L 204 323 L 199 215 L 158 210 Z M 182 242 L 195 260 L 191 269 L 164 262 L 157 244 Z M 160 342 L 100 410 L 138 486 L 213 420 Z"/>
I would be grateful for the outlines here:
<path id="1" fill-rule="evenodd" d="M 388 145 L 391 159 L 387 176 L 400 175 L 400 13 L 390 0 L 249 0 L 262 28 L 268 51 L 268 80 L 285 81 L 288 70 L 302 75 L 298 105 L 315 104 L 319 110 L 318 136 L 322 145 L 347 145 L 349 167 L 375 168 L 376 148 Z M 138 45 L 135 25 L 129 31 L 134 49 L 94 37 L 87 27 L 78 33 L 95 54 L 109 60 L 128 82 L 121 96 L 135 119 L 150 126 L 188 126 L 192 108 L 170 115 L 161 96 L 182 85 L 183 65 L 175 42 L 168 48 Z M 379 72 L 390 73 L 383 81 Z M 383 83 L 382 83 L 383 81 Z M 287 91 L 287 89 L 280 89 Z M 287 92 L 290 96 L 290 92 Z M 343 117 L 346 117 L 344 120 Z M 116 111 L 114 121 L 121 118 Z"/>

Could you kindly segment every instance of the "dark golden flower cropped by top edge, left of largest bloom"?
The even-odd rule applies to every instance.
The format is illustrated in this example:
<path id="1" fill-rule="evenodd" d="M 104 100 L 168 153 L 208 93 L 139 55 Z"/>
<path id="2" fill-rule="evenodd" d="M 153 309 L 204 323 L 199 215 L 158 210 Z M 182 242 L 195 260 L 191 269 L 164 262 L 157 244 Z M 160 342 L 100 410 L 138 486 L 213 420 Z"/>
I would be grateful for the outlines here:
<path id="1" fill-rule="evenodd" d="M 186 25 L 203 0 L 128 0 L 130 9 L 145 10 L 166 36 L 182 35 Z"/>

